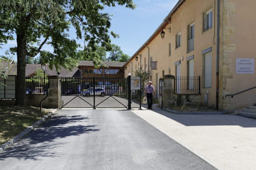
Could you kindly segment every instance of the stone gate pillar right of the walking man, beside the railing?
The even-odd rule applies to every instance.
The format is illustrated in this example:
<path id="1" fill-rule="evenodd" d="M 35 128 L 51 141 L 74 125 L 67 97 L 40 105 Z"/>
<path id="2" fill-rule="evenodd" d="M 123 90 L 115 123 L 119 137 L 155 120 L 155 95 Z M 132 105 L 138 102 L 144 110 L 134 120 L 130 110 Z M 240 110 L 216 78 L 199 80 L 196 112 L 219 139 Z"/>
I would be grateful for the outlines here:
<path id="1" fill-rule="evenodd" d="M 159 99 L 159 106 L 168 108 L 173 105 L 173 75 L 162 76 L 162 98 Z M 160 82 L 160 81 L 159 81 Z"/>

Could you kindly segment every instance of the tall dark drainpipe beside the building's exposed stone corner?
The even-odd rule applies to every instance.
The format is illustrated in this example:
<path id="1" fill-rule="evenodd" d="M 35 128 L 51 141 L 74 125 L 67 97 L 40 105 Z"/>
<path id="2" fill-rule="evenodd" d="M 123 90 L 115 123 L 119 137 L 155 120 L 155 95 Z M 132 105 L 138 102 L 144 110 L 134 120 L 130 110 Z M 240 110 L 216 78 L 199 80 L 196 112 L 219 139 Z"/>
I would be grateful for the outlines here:
<path id="1" fill-rule="evenodd" d="M 216 110 L 219 110 L 219 0 L 217 0 Z"/>

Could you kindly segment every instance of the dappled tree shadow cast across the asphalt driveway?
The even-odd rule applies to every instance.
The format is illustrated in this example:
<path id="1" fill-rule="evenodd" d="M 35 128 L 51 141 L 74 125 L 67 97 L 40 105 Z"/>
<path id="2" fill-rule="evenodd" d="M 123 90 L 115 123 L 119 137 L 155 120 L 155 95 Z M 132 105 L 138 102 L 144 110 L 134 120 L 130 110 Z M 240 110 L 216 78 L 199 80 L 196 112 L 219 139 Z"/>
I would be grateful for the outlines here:
<path id="1" fill-rule="evenodd" d="M 24 136 L 22 141 L 15 144 L 15 146 L 1 153 L 0 160 L 10 157 L 39 160 L 43 157 L 61 156 L 62 154 L 57 152 L 56 147 L 61 148 L 64 144 L 69 143 L 64 138 L 100 130 L 95 128 L 97 125 L 81 125 L 83 124 L 81 122 L 85 122 L 85 120 L 89 120 L 89 117 L 81 115 L 53 116 L 50 120 Z"/>

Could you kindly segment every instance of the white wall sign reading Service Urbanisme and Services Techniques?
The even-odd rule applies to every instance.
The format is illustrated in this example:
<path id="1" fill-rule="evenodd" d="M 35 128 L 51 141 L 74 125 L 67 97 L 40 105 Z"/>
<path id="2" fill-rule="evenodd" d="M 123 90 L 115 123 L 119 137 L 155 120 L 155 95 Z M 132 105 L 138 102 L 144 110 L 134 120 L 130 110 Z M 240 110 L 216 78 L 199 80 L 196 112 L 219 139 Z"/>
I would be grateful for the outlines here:
<path id="1" fill-rule="evenodd" d="M 236 58 L 237 74 L 254 74 L 254 58 Z"/>

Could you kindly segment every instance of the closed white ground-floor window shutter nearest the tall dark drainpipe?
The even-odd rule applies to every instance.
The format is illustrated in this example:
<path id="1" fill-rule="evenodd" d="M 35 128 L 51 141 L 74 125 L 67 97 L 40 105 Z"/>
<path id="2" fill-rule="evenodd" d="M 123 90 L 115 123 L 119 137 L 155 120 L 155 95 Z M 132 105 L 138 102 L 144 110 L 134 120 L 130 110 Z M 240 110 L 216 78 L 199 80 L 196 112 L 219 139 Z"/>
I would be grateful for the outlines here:
<path id="1" fill-rule="evenodd" d="M 204 88 L 211 87 L 212 52 L 204 54 Z"/>

